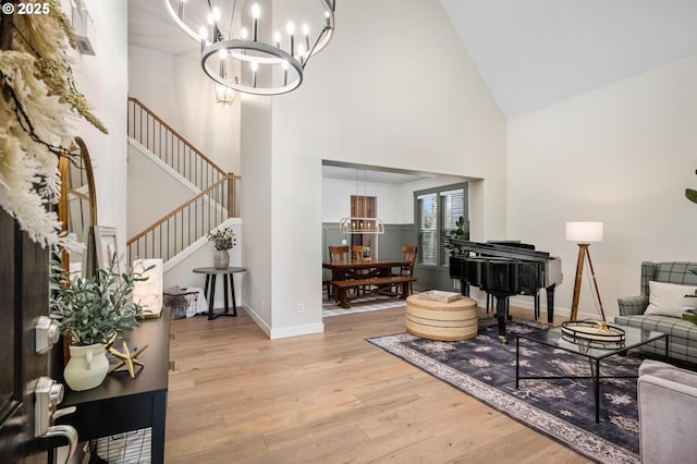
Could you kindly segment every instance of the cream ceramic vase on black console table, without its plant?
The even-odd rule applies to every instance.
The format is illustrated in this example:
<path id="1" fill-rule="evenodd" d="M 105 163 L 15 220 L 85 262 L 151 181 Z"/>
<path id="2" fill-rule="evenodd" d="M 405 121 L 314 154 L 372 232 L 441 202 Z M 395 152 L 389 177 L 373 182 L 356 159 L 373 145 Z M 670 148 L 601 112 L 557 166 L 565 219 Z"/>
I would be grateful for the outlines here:
<path id="1" fill-rule="evenodd" d="M 109 370 L 109 359 L 107 359 L 103 343 L 87 346 L 70 345 L 69 350 L 70 361 L 63 371 L 65 383 L 73 391 L 99 387 Z"/>

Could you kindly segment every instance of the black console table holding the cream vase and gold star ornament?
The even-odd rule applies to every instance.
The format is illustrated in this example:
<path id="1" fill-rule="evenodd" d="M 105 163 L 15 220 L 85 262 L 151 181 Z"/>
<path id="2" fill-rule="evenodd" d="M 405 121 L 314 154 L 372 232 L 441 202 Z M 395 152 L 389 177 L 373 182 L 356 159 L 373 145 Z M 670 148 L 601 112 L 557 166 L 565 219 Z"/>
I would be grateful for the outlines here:
<path id="1" fill-rule="evenodd" d="M 134 379 L 125 370 L 109 374 L 101 386 L 87 391 L 72 391 L 65 386 L 65 396 L 59 407 L 75 406 L 76 411 L 60 417 L 57 424 L 75 427 L 80 441 L 150 427 L 150 462 L 163 463 L 170 309 L 163 308 L 157 319 L 140 321 L 138 328 L 125 335 L 130 349 L 148 345 L 138 355 L 145 367 L 136 367 Z M 120 350 L 121 341 L 117 341 L 114 347 Z"/>

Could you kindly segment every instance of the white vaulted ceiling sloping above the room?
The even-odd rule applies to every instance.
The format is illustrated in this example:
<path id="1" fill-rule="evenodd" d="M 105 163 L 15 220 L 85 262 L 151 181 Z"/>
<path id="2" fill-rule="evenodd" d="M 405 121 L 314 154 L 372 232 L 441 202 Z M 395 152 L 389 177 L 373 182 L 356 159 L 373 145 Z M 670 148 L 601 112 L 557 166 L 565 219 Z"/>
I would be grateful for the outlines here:
<path id="1" fill-rule="evenodd" d="M 508 118 L 697 54 L 697 0 L 440 3 Z M 196 49 L 162 0 L 129 0 L 129 41 L 173 54 Z"/>

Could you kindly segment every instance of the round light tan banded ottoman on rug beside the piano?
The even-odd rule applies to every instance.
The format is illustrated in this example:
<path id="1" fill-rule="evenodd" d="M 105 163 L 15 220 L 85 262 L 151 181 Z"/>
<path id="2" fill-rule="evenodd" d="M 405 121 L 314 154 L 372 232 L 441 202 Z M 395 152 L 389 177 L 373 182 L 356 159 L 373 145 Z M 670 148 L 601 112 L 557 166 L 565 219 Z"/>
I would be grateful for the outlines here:
<path id="1" fill-rule="evenodd" d="M 406 298 L 406 331 L 429 340 L 477 337 L 477 302 L 467 296 L 450 303 L 412 295 Z"/>

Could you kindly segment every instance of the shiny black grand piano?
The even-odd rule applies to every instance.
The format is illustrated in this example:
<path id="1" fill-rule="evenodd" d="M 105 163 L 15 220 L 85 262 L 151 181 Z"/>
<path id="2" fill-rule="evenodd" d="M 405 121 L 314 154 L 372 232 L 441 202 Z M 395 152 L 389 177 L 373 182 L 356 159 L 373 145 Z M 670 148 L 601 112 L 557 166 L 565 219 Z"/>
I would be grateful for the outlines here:
<path id="1" fill-rule="evenodd" d="M 539 305 L 540 289 L 547 291 L 547 321 L 554 318 L 554 288 L 562 283 L 562 260 L 534 245 L 501 242 L 479 243 L 450 240 L 450 277 L 462 283 L 467 295 L 469 285 L 478 286 L 497 300 L 499 338 L 505 342 L 508 300 L 511 295 L 533 295 Z"/>

